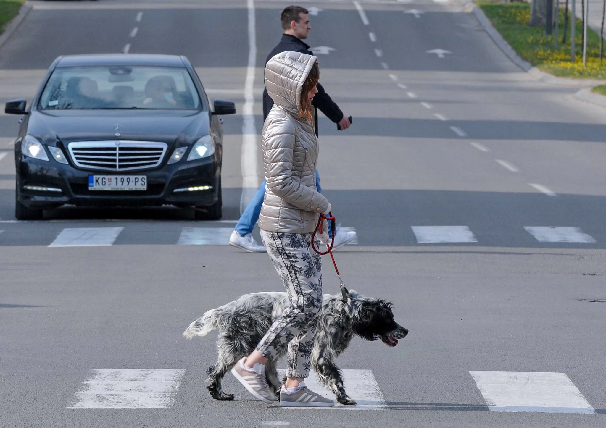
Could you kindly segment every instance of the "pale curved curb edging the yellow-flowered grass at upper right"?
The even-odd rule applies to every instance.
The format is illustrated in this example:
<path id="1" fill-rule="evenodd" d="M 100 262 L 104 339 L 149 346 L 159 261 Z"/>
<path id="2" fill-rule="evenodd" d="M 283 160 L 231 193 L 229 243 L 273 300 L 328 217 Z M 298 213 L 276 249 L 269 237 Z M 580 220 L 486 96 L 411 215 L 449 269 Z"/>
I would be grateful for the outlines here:
<path id="1" fill-rule="evenodd" d="M 493 39 L 494 44 L 496 44 L 501 51 L 507 55 L 507 57 L 514 62 L 514 64 L 518 65 L 518 67 L 522 68 L 522 70 L 526 71 L 528 74 L 531 74 L 537 80 L 541 82 L 545 82 L 552 85 L 563 85 L 563 86 L 572 86 L 572 87 L 594 87 L 597 85 L 606 84 L 606 80 L 599 79 L 566 79 L 564 77 L 556 77 L 551 76 L 549 73 L 545 73 L 545 71 L 541 71 L 536 67 L 533 67 L 530 62 L 522 59 L 518 53 L 510 46 L 510 44 L 505 41 L 501 33 L 493 27 L 490 19 L 484 14 L 482 8 L 476 5 L 471 0 L 461 0 L 467 12 L 473 13 L 484 30 L 488 33 L 491 39 Z M 580 91 L 579 91 L 580 92 Z"/>

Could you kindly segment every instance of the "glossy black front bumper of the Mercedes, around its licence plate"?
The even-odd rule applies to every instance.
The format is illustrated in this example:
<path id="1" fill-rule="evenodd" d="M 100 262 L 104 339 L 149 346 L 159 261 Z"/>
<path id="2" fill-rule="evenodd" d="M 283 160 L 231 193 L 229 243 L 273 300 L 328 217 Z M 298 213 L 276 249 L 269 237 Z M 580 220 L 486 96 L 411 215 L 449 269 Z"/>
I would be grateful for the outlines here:
<path id="1" fill-rule="evenodd" d="M 17 165 L 19 202 L 30 208 L 54 208 L 65 204 L 78 206 L 210 206 L 218 200 L 221 183 L 221 165 L 215 156 L 206 159 L 164 165 L 154 170 L 115 173 L 113 171 L 79 170 L 54 159 L 48 161 L 21 156 Z M 88 190 L 90 175 L 147 176 L 144 191 Z M 45 191 L 34 188 L 52 188 Z M 210 186 L 208 190 L 184 191 L 176 189 Z M 60 192 L 58 191 L 60 190 Z"/>

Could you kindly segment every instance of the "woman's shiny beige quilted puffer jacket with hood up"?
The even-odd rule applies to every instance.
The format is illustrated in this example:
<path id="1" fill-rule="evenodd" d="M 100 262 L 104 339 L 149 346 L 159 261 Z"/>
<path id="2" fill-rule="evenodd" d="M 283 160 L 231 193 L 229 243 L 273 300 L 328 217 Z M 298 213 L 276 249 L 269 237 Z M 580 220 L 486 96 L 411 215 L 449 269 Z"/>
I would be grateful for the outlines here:
<path id="1" fill-rule="evenodd" d="M 261 137 L 265 198 L 259 228 L 270 232 L 313 232 L 330 203 L 316 190 L 318 140 L 312 123 L 299 116 L 301 88 L 318 58 L 282 52 L 265 66 L 265 87 L 275 103 Z M 305 96 L 305 95 L 304 95 Z"/>

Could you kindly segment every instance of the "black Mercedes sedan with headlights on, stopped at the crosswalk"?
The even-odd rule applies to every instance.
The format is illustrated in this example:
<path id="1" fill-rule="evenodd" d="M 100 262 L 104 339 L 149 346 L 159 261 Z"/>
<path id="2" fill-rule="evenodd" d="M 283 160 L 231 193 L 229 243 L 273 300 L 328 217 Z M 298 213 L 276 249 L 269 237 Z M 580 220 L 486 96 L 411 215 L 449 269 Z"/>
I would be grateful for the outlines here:
<path id="1" fill-rule="evenodd" d="M 79 206 L 195 208 L 221 218 L 220 114 L 183 56 L 90 54 L 53 62 L 15 141 L 15 217 L 38 220 L 44 209 Z"/>

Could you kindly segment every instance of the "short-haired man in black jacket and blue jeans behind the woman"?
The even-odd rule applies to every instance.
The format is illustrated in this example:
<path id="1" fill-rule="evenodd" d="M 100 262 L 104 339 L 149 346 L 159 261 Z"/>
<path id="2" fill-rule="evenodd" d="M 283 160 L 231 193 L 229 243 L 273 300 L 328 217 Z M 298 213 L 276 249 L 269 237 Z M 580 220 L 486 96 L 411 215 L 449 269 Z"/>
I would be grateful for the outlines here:
<path id="1" fill-rule="evenodd" d="M 313 55 L 307 45 L 302 39 L 307 39 L 307 33 L 311 30 L 309 24 L 308 11 L 304 7 L 300 6 L 288 6 L 282 11 L 280 18 L 282 28 L 284 28 L 284 35 L 279 44 L 271 50 L 270 54 L 265 60 L 265 64 L 273 58 L 276 54 L 285 51 L 301 52 Z M 314 109 L 314 128 L 316 130 L 316 136 L 318 136 L 318 109 L 324 113 L 328 119 L 339 124 L 340 130 L 346 130 L 350 127 L 351 123 L 347 117 L 343 114 L 338 105 L 331 99 L 326 93 L 321 84 L 318 84 L 318 93 L 313 97 L 311 105 Z M 267 90 L 263 91 L 263 121 L 267 119 L 267 114 L 273 107 L 273 100 L 267 94 Z M 321 192 L 320 176 L 316 170 L 316 187 Z M 259 219 L 259 213 L 261 212 L 261 205 L 263 204 L 263 197 L 265 196 L 265 182 L 261 183 L 261 187 L 255 194 L 255 197 L 248 203 L 248 206 L 242 212 L 240 220 L 236 224 L 236 228 L 231 232 L 229 244 L 237 248 L 244 249 L 248 252 L 264 252 L 265 247 L 259 245 L 253 239 L 251 234 L 255 223 Z M 337 249 L 348 242 L 351 242 L 356 238 L 356 232 L 339 232 L 335 236 L 335 245 L 333 250 Z"/>

